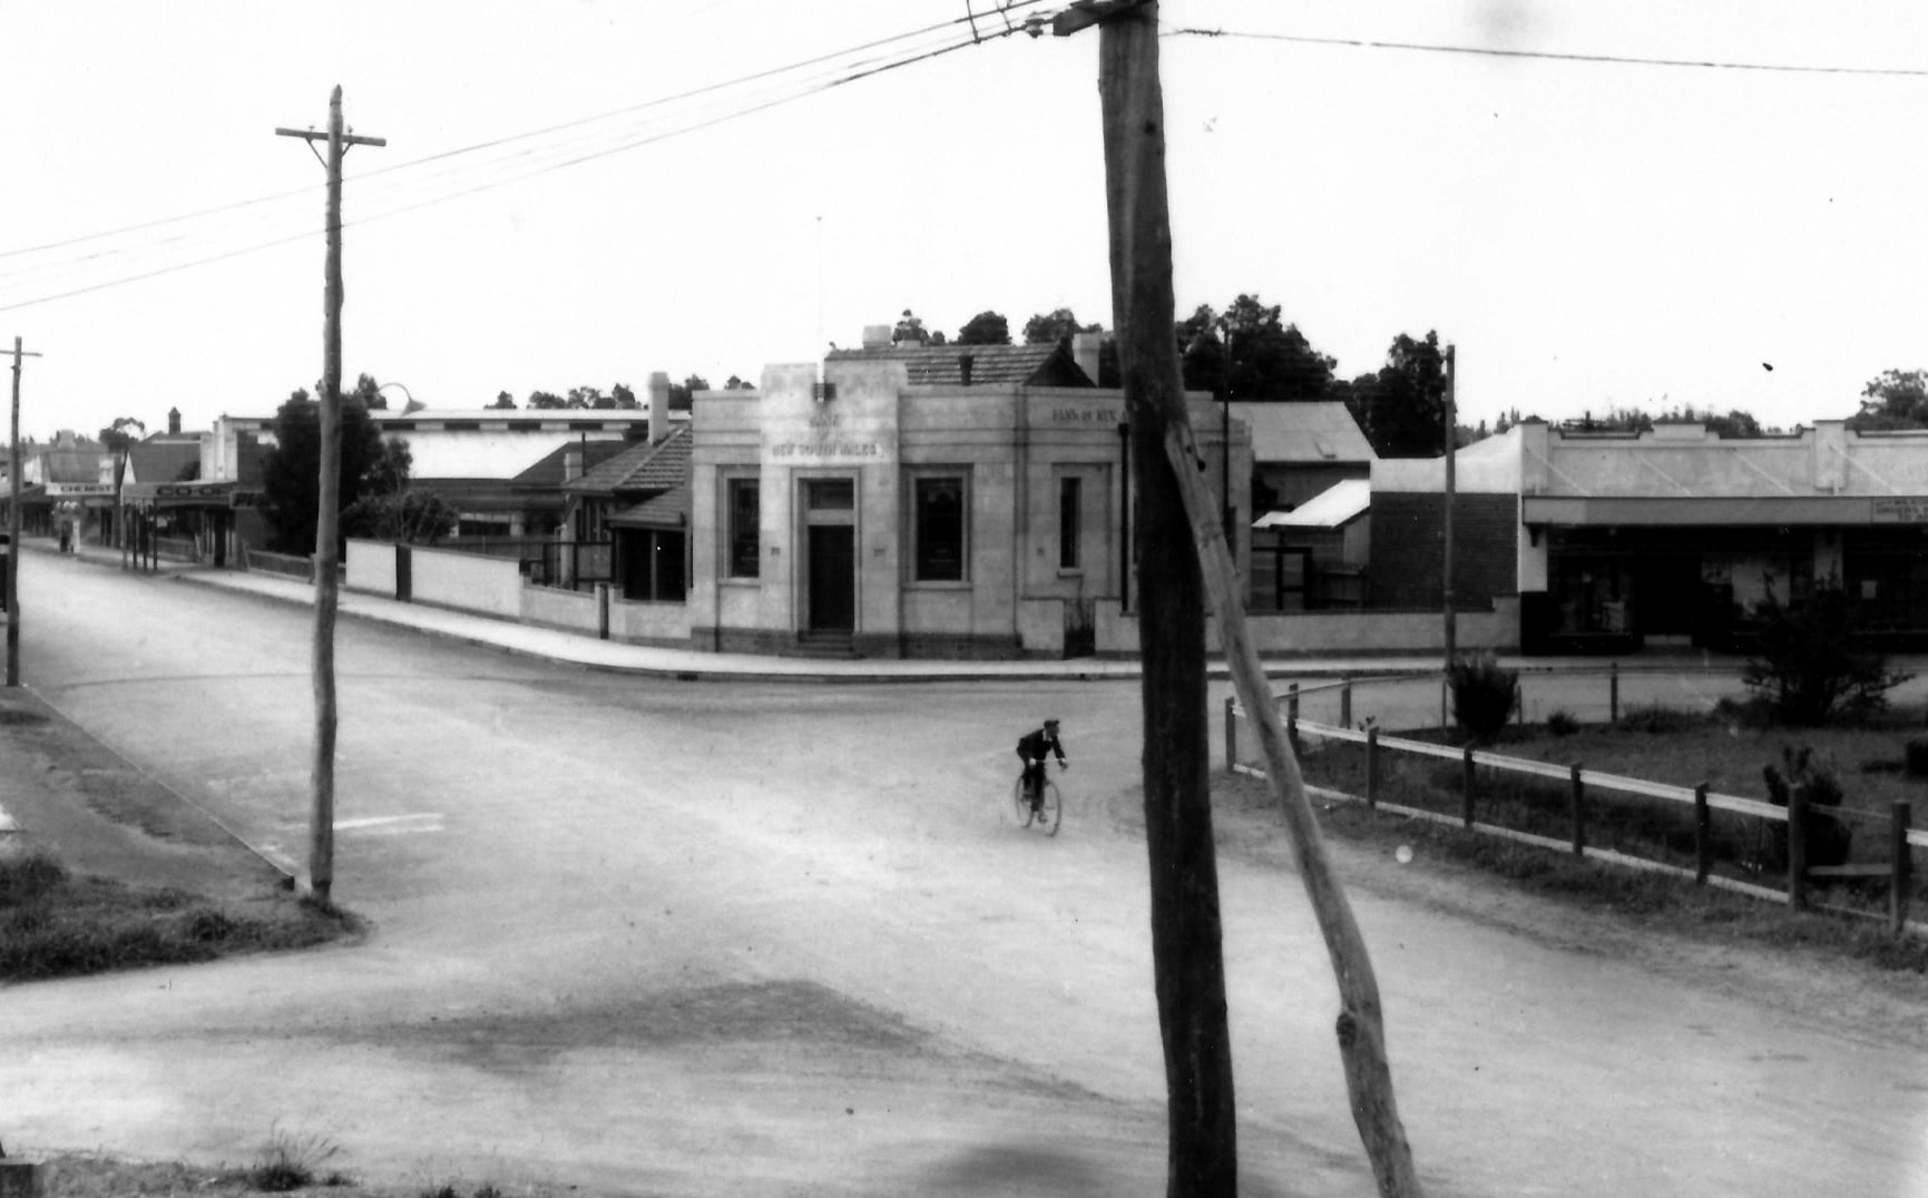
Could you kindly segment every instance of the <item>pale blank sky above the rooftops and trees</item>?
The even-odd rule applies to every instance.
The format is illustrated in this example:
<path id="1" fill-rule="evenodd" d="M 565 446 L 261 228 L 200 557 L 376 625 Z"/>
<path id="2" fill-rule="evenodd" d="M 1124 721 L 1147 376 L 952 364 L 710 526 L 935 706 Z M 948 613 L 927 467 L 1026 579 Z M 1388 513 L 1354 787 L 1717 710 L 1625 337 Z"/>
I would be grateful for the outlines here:
<path id="1" fill-rule="evenodd" d="M 1166 0 L 1161 25 L 1180 316 L 1257 295 L 1342 378 L 1438 331 L 1467 424 L 1791 428 L 1928 366 L 1928 6 Z M 904 308 L 1111 327 L 1097 33 L 1004 27 L 991 0 L 8 4 L 0 347 L 44 354 L 21 431 L 206 428 L 316 385 L 324 169 L 274 129 L 326 129 L 335 85 L 388 141 L 347 154 L 343 370 L 391 403 L 756 381 Z"/>

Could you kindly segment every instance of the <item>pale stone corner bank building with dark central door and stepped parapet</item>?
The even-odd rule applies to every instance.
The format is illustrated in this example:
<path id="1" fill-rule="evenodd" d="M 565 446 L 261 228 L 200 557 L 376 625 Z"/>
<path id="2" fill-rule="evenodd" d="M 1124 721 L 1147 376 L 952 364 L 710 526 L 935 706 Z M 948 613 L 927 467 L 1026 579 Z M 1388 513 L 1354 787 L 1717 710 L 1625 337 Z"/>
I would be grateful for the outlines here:
<path id="1" fill-rule="evenodd" d="M 1072 345 L 889 343 L 696 397 L 690 645 L 1012 659 L 1136 653 L 1124 395 Z M 1251 443 L 1188 397 L 1244 564 Z M 1230 483 L 1230 485 L 1228 485 Z"/>

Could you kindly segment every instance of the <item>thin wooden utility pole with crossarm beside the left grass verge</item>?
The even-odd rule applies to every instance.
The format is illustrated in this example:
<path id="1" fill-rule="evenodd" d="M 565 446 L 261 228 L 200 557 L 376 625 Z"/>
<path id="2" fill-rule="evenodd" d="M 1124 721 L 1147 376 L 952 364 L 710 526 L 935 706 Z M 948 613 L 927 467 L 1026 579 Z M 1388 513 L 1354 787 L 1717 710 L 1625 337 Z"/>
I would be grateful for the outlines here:
<path id="1" fill-rule="evenodd" d="M 380 137 L 355 137 L 341 125 L 341 85 L 328 98 L 328 131 L 276 129 L 314 150 L 328 143 L 328 266 L 322 299 L 322 478 L 314 522 L 314 807 L 308 815 L 308 894 L 326 903 L 335 880 L 335 601 L 341 547 L 335 524 L 341 507 L 341 158 L 349 146 L 386 146 Z M 316 158 L 320 154 L 316 152 Z"/>

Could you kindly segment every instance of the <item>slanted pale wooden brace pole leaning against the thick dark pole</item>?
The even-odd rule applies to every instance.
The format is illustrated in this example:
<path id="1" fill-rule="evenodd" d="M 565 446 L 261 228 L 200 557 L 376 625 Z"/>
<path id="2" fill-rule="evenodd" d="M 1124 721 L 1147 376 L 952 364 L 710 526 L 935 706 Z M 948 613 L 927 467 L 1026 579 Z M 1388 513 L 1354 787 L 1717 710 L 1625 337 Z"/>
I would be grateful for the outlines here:
<path id="1" fill-rule="evenodd" d="M 1265 666 L 1259 663 L 1259 651 L 1245 628 L 1245 601 L 1238 589 L 1238 570 L 1232 564 L 1218 514 L 1213 510 L 1211 491 L 1199 476 L 1203 458 L 1188 424 L 1174 424 L 1166 431 L 1165 453 L 1172 462 L 1172 474 L 1182 480 L 1186 516 L 1192 520 L 1192 537 L 1205 570 L 1205 589 L 1211 593 L 1211 607 L 1218 616 L 1218 641 L 1232 670 L 1238 699 L 1259 732 L 1265 768 L 1278 794 L 1286 828 L 1292 832 L 1292 853 L 1299 867 L 1299 878 L 1303 878 L 1305 894 L 1319 917 L 1319 932 L 1332 957 L 1332 973 L 1338 975 L 1338 1052 L 1346 1067 L 1352 1119 L 1373 1161 L 1379 1192 L 1384 1198 L 1417 1198 L 1419 1175 L 1413 1171 L 1413 1152 L 1406 1142 L 1406 1129 L 1392 1100 L 1386 1025 L 1379 1005 L 1373 959 L 1352 915 L 1352 903 L 1346 901 L 1346 892 L 1332 872 L 1325 842 L 1319 836 L 1319 820 L 1313 817 L 1311 799 L 1305 797 L 1299 763 L 1292 755 L 1286 726 L 1278 718 L 1278 709 L 1272 705 L 1265 682 Z"/>

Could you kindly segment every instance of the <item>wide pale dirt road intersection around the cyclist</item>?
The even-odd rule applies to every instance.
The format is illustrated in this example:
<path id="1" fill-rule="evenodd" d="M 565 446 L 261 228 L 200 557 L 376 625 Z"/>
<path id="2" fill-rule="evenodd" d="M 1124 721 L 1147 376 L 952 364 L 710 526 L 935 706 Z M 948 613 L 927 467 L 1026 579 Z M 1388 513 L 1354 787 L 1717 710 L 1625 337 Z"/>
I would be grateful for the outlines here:
<path id="1" fill-rule="evenodd" d="M 40 693 L 299 846 L 303 612 L 42 576 Z M 337 894 L 374 932 L 0 992 L 10 1148 L 237 1159 L 280 1125 L 503 1186 L 1163 1192 L 1134 688 L 638 684 L 341 639 Z M 1045 707 L 1058 840 L 1001 817 Z M 1369 1192 L 1325 951 L 1267 826 L 1226 822 L 1245 1192 Z M 1907 996 L 1344 865 L 1429 1192 L 1928 1192 Z"/>

